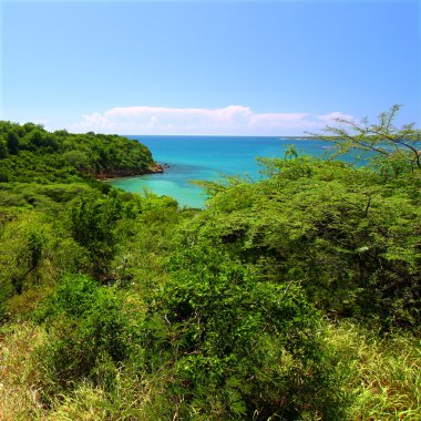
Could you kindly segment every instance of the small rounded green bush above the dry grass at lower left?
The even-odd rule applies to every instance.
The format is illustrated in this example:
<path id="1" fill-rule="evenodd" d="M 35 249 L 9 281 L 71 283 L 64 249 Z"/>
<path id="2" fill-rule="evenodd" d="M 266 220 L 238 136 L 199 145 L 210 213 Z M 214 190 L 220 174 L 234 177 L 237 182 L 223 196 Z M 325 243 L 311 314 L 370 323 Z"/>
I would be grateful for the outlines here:
<path id="1" fill-rule="evenodd" d="M 101 363 L 112 368 L 127 357 L 131 331 L 122 308 L 113 288 L 92 279 L 69 276 L 60 283 L 37 314 L 39 321 L 48 322 L 50 342 L 40 349 L 40 358 L 51 380 L 60 386 L 95 380 Z"/>

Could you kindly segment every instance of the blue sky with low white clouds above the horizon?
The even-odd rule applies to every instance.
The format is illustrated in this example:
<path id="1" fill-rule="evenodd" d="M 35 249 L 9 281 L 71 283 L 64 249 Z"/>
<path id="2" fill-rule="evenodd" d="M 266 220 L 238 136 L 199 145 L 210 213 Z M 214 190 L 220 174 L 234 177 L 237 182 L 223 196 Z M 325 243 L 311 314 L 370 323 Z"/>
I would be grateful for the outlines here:
<path id="1" fill-rule="evenodd" d="M 403 104 L 420 1 L 1 3 L 1 119 L 122 134 L 301 134 Z"/>

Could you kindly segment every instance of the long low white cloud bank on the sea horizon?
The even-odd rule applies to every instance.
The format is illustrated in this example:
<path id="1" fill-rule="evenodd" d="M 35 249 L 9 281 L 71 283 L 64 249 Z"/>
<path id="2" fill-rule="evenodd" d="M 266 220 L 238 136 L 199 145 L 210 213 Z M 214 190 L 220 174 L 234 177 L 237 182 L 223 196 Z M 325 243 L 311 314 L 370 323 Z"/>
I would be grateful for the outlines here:
<path id="1" fill-rule="evenodd" d="M 174 135 L 302 135 L 320 131 L 336 119 L 353 120 L 341 112 L 256 113 L 248 106 L 176 109 L 158 106 L 113 107 L 82 115 L 69 125 L 72 132 Z"/>

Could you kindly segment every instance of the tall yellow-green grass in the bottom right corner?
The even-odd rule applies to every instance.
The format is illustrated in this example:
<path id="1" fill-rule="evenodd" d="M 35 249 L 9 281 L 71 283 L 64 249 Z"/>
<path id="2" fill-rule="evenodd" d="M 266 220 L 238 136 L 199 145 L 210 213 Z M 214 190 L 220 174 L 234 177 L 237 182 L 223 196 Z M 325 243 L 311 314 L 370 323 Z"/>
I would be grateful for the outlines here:
<path id="1" fill-rule="evenodd" d="M 350 322 L 329 326 L 338 372 L 350 397 L 349 420 L 421 419 L 421 346 L 399 332 L 381 338 Z"/>

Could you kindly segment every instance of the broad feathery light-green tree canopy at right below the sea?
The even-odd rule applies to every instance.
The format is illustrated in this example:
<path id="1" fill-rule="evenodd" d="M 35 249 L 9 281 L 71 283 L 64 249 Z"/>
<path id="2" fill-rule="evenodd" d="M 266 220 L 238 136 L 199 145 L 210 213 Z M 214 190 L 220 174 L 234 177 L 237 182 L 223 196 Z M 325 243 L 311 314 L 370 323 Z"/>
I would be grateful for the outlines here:
<path id="1" fill-rule="evenodd" d="M 306 157 L 265 164 L 263 182 L 207 185 L 209 208 L 188 235 L 222 239 L 269 279 L 300 281 L 320 309 L 417 327 L 420 178 L 383 185 L 366 168 Z"/>

